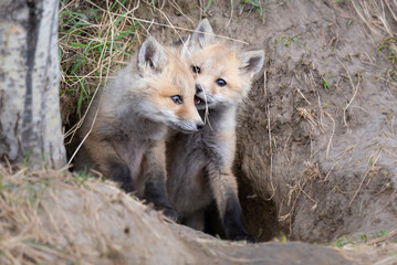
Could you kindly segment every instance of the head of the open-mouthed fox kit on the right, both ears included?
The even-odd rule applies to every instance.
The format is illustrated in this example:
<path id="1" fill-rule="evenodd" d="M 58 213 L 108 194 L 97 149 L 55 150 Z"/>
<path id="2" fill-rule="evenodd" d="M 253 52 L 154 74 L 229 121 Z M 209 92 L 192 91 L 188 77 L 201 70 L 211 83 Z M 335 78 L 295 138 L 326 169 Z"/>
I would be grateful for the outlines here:
<path id="1" fill-rule="evenodd" d="M 208 20 L 197 28 L 182 49 L 182 57 L 195 77 L 197 108 L 237 105 L 247 96 L 252 77 L 261 71 L 263 51 L 238 54 L 217 42 Z"/>

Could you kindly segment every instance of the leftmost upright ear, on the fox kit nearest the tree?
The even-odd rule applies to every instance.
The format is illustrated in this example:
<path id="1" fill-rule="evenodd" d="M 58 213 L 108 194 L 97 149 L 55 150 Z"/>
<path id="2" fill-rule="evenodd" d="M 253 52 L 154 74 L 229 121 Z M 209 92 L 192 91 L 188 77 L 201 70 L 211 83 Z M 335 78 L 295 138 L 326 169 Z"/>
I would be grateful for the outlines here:
<path id="1" fill-rule="evenodd" d="M 138 52 L 138 67 L 150 67 L 155 72 L 161 72 L 167 65 L 167 55 L 163 46 L 152 36 L 146 39 Z"/>

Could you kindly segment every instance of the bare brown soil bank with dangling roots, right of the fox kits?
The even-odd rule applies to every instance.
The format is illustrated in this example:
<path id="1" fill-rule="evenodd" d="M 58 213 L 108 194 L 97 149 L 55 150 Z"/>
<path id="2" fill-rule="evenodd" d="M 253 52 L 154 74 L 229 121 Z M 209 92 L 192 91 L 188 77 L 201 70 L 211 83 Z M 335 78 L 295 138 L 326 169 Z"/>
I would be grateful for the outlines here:
<path id="1" fill-rule="evenodd" d="M 240 116 L 241 195 L 271 199 L 280 230 L 306 242 L 391 231 L 397 220 L 391 65 L 376 50 L 380 35 L 335 7 L 291 1 L 268 12 L 263 35 L 255 36 L 270 57 L 265 80 L 252 87 Z M 301 44 L 285 46 L 295 35 Z M 263 223 L 252 231 L 267 230 Z"/>

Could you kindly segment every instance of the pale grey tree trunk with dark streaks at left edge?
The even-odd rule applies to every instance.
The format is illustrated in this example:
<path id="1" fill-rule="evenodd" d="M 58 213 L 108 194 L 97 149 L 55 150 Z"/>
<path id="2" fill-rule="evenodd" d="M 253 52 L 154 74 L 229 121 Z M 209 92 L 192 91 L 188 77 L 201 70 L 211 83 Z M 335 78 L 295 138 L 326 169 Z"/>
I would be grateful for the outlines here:
<path id="1" fill-rule="evenodd" d="M 65 163 L 59 105 L 58 0 L 0 2 L 0 156 Z"/>

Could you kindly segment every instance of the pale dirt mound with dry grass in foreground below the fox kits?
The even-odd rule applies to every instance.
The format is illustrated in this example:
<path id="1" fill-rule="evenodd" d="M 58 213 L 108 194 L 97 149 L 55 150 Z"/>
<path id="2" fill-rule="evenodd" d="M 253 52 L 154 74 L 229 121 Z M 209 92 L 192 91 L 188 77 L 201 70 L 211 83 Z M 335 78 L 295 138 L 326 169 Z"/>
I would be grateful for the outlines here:
<path id="1" fill-rule="evenodd" d="M 0 166 L 0 182 L 1 264 L 349 264 L 324 246 L 222 242 L 96 179 Z"/>

